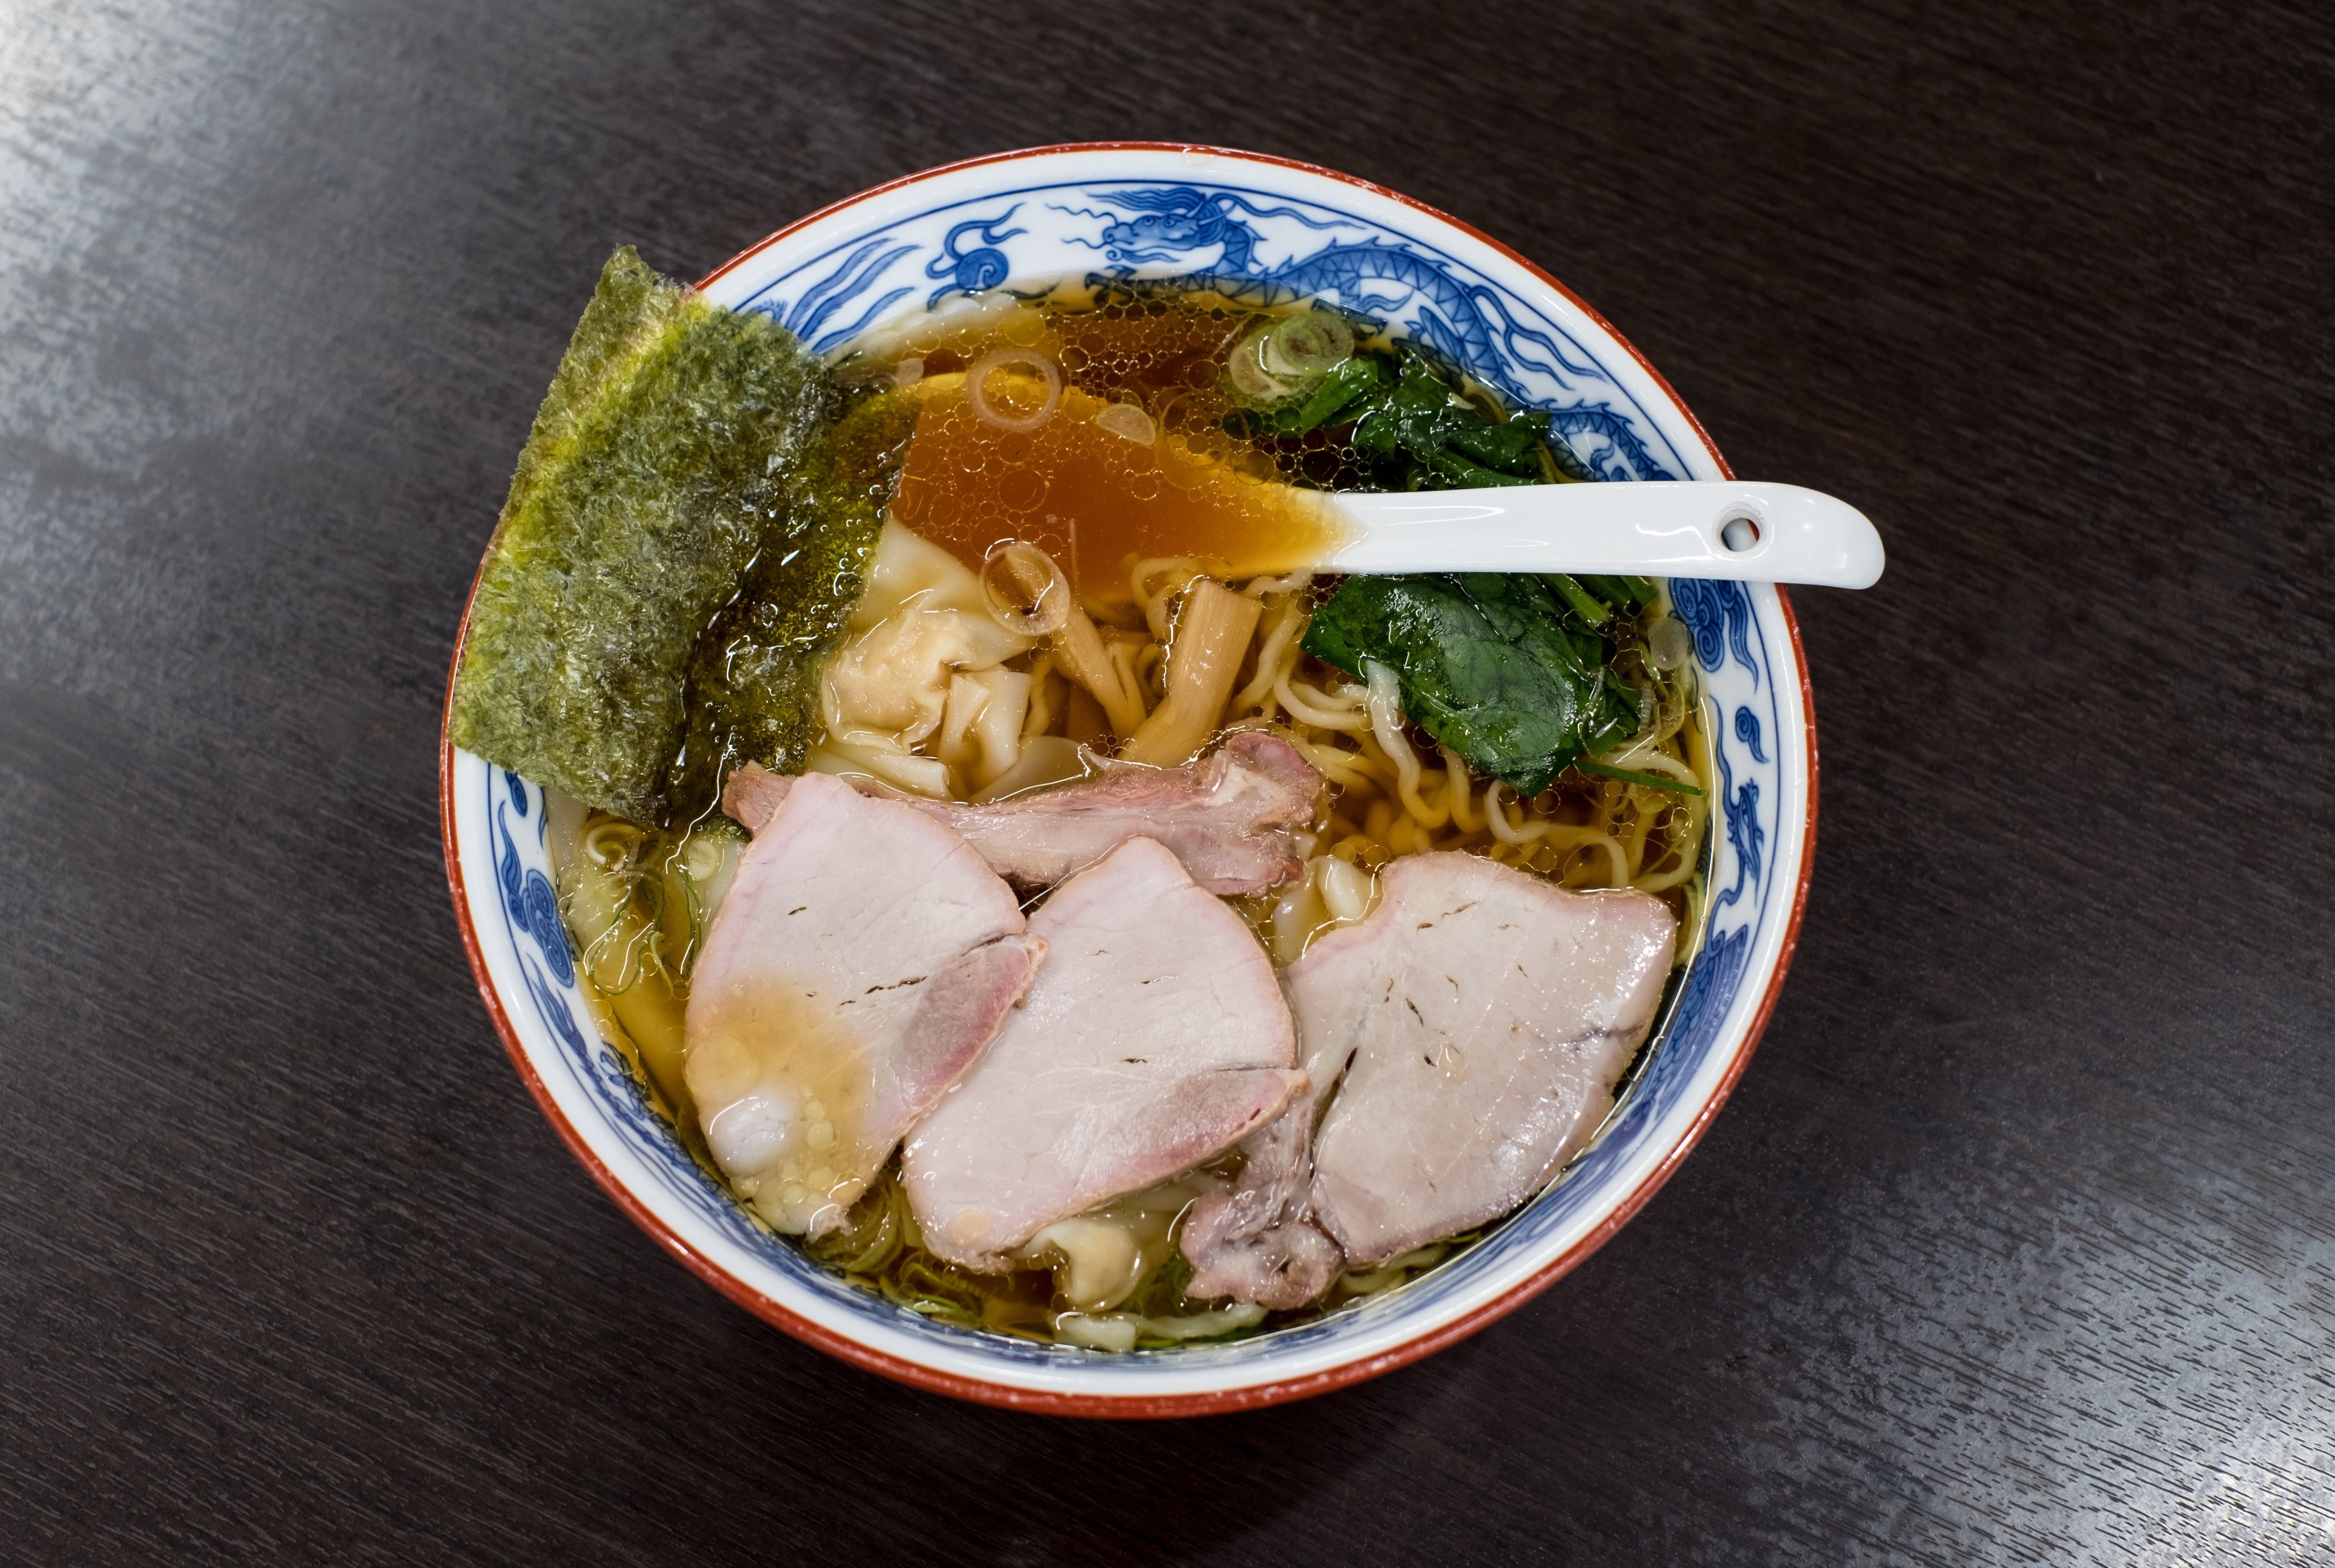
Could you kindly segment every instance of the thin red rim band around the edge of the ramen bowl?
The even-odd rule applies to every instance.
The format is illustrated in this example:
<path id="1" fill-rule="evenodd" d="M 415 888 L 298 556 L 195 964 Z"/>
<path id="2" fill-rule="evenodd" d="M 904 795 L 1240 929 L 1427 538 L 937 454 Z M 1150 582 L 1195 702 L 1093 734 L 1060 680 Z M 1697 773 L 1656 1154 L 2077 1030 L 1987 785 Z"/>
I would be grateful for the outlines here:
<path id="1" fill-rule="evenodd" d="M 1427 205 L 1424 201 L 1413 201 L 1401 191 L 1389 191 L 1382 184 L 1373 184 L 1371 180 L 1359 180 L 1354 175 L 1345 175 L 1333 168 L 1322 168 L 1319 163 L 1303 163 L 1298 159 L 1277 159 L 1263 152 L 1240 152 L 1235 147 L 1207 147 L 1198 142 L 1058 142 L 1051 147 L 1023 147 L 1018 152 L 995 152 L 983 159 L 943 163 L 939 168 L 927 168 L 913 175 L 904 175 L 899 180 L 869 187 L 857 196 L 845 196 L 843 201 L 829 203 L 817 212 L 810 212 L 808 217 L 801 217 L 787 224 L 785 229 L 764 236 L 754 245 L 747 245 L 736 257 L 731 257 L 715 271 L 705 273 L 705 278 L 700 278 L 696 287 L 703 289 L 712 285 L 717 278 L 740 266 L 750 257 L 759 254 L 761 250 L 775 245 L 778 240 L 787 238 L 796 229 L 815 224 L 829 212 L 841 212 L 843 208 L 859 205 L 871 196 L 883 196 L 885 191 L 894 191 L 904 184 L 915 184 L 920 180 L 929 180 L 934 175 L 948 175 L 962 168 L 981 168 L 983 163 L 1009 163 L 1016 159 L 1037 159 L 1060 152 L 1193 152 L 1219 159 L 1240 159 L 1247 163 L 1296 168 L 1308 175 L 1322 175 L 1324 180 L 1336 180 L 1340 184 L 1359 187 L 1375 196 L 1385 196 L 1406 208 L 1424 212 L 1436 222 L 1450 224 L 1459 233 L 1466 233 L 1480 240 L 1483 245 L 1490 245 L 1499 254 L 1508 257 L 1527 273 L 1532 273 L 1534 278 L 1553 287 L 1557 294 L 1569 299 L 1592 322 L 1597 322 L 1597 327 L 1602 327 L 1616 343 L 1620 343 L 1620 348 L 1632 359 L 1637 359 L 1639 369 L 1646 371 L 1646 376 L 1651 376 L 1658 387 L 1663 387 L 1663 394 L 1670 397 L 1672 406 L 1677 406 L 1679 413 L 1686 415 L 1688 425 L 1695 432 L 1695 439 L 1702 441 L 1702 448 L 1712 455 L 1712 462 L 1719 464 L 1719 471 L 1726 478 L 1735 478 L 1735 469 L 1728 467 L 1728 460 L 1719 453 L 1719 446 L 1702 427 L 1702 420 L 1695 418 L 1695 411 L 1686 406 L 1686 401 L 1677 394 L 1677 390 L 1672 390 L 1670 380 L 1665 380 L 1663 373 L 1653 369 L 1646 355 L 1637 352 L 1637 345 L 1630 343 L 1630 338 L 1625 338 L 1620 331 L 1613 329 L 1613 322 L 1597 315 L 1597 310 L 1585 299 L 1581 299 L 1560 280 L 1548 275 L 1548 271 L 1543 271 L 1527 257 L 1518 254 L 1508 245 L 1501 245 L 1499 240 L 1476 229 L 1473 224 L 1466 224 L 1448 212 L 1441 212 Z M 488 541 L 488 548 L 493 548 L 493 539 Z M 1686 1136 L 1681 1136 L 1677 1146 L 1672 1146 L 1672 1150 L 1663 1157 L 1663 1162 L 1646 1174 L 1646 1178 L 1613 1209 L 1613 1213 L 1604 1218 L 1604 1223 L 1597 1225 L 1597 1230 L 1585 1234 L 1581 1241 L 1569 1246 L 1564 1253 L 1553 1258 L 1536 1274 L 1520 1281 L 1499 1300 L 1485 1302 L 1483 1307 L 1462 1318 L 1455 1318 L 1436 1330 L 1429 1330 L 1417 1339 L 1408 1339 L 1389 1351 L 1380 1351 L 1378 1356 L 1352 1360 L 1340 1367 L 1329 1367 L 1324 1372 L 1315 1372 L 1308 1377 L 1284 1379 L 1277 1384 L 1259 1384 L 1252 1388 L 1200 1391 L 1200 1393 L 1170 1393 L 1170 1395 L 1097 1395 L 1097 1393 L 1055 1393 L 1041 1388 L 1011 1388 L 1006 1384 L 990 1384 L 974 1377 L 939 1372 L 934 1367 L 922 1367 L 913 1360 L 904 1360 L 899 1356 L 869 1349 L 857 1339 L 845 1339 L 843 1335 L 820 1323 L 813 1323 L 810 1318 L 803 1318 L 801 1314 L 782 1307 L 761 1290 L 754 1290 L 738 1276 L 717 1267 L 712 1260 L 708 1260 L 703 1253 L 689 1246 L 679 1234 L 672 1232 L 670 1225 L 665 1225 L 637 1197 L 633 1197 L 633 1192 L 628 1192 L 623 1183 L 616 1181 L 616 1176 L 600 1162 L 598 1155 L 591 1153 L 591 1148 L 584 1143 L 584 1136 L 560 1113 L 558 1104 L 551 1099 L 551 1090 L 544 1085 L 544 1080 L 535 1073 L 535 1066 L 528 1062 L 528 1052 L 518 1043 L 518 1031 L 511 1027 L 511 1017 L 504 1013 L 502 999 L 495 994 L 495 985 L 486 973 L 486 952 L 479 947 L 479 931 L 472 926 L 469 919 L 469 898 L 465 896 L 462 866 L 460 859 L 455 856 L 453 742 L 446 735 L 446 723 L 453 714 L 453 674 L 455 670 L 462 667 L 462 644 L 469 637 L 469 611 L 472 602 L 479 597 L 479 579 L 483 574 L 486 574 L 486 553 L 481 553 L 479 558 L 479 572 L 472 576 L 469 597 L 462 602 L 462 632 L 455 637 L 453 660 L 448 663 L 446 672 L 446 705 L 439 716 L 439 842 L 446 856 L 446 887 L 453 894 L 455 924 L 460 924 L 462 929 L 462 950 L 469 954 L 469 968 L 479 982 L 479 996 L 481 1001 L 486 1001 L 486 1013 L 495 1022 L 495 1034 L 502 1036 L 502 1048 L 511 1057 L 511 1066 L 518 1069 L 518 1078 L 528 1085 L 528 1092 L 535 1094 L 535 1104 L 542 1106 L 544 1120 L 549 1120 L 551 1127 L 560 1134 L 570 1153 L 574 1153 L 577 1162 L 581 1162 L 584 1169 L 591 1171 L 591 1178 L 600 1183 L 600 1190 L 607 1192 L 616 1202 L 616 1206 L 633 1218 L 635 1225 L 649 1232 L 649 1237 L 668 1253 L 672 1253 L 689 1272 L 693 1272 L 708 1286 L 712 1286 L 729 1300 L 738 1302 L 761 1321 L 801 1339 L 803 1344 L 817 1346 L 829 1356 L 836 1356 L 838 1360 L 848 1360 L 857 1367 L 864 1367 L 880 1377 L 890 1377 L 892 1381 L 908 1384 L 913 1388 L 946 1393 L 950 1398 L 971 1400 L 976 1405 L 995 1405 L 1002 1409 L 1030 1409 L 1051 1416 L 1104 1416 L 1104 1419 L 1210 1416 L 1235 1409 L 1261 1409 L 1266 1405 L 1287 1405 L 1289 1400 L 1305 1400 L 1317 1393 L 1329 1393 L 1333 1388 L 1345 1388 L 1350 1384 L 1361 1384 L 1373 1377 L 1382 1377 L 1387 1372 L 1394 1372 L 1396 1367 L 1410 1365 L 1413 1360 L 1434 1356 L 1443 1346 L 1457 1344 L 1459 1339 L 1466 1339 L 1469 1335 L 1497 1323 L 1499 1318 L 1508 1316 L 1511 1311 L 1536 1297 L 1548 1286 L 1571 1274 L 1576 1267 L 1581 1267 L 1581 1262 L 1590 1253 L 1604 1246 L 1613 1237 L 1613 1232 L 1627 1225 L 1630 1218 L 1634 1218 L 1637 1211 L 1644 1209 L 1649 1199 L 1653 1199 L 1653 1195 L 1663 1188 L 1663 1183 L 1670 1181 L 1672 1171 L 1679 1169 L 1679 1162 L 1686 1160 L 1686 1155 L 1693 1153 L 1695 1143 L 1702 1141 L 1702 1134 L 1709 1129 L 1712 1118 L 1719 1115 L 1719 1108 L 1728 1101 L 1728 1094 L 1735 1092 L 1735 1083 L 1737 1078 L 1742 1078 L 1744 1066 L 1751 1062 L 1751 1052 L 1758 1048 L 1761 1034 L 1765 1034 L 1768 1029 L 1768 1017 L 1775 1013 L 1775 1001 L 1784 989 L 1784 975 L 1791 971 L 1793 950 L 1800 945 L 1800 915 L 1807 910 L 1807 882 L 1817 863 L 1817 707 L 1814 707 L 1814 691 L 1810 688 L 1807 681 L 1807 653 L 1800 646 L 1800 621 L 1791 611 L 1791 595 L 1786 595 L 1784 588 L 1779 586 L 1775 590 L 1775 597 L 1784 611 L 1784 628 L 1791 632 L 1791 658 L 1793 667 L 1800 672 L 1800 712 L 1805 714 L 1803 728 L 1807 733 L 1807 826 L 1800 847 L 1800 882 L 1791 896 L 1791 919 L 1784 926 L 1784 945 L 1777 952 L 1775 973 L 1768 978 L 1768 994 L 1761 996 L 1758 1013 L 1754 1013 L 1751 1017 L 1751 1027 L 1744 1034 L 1742 1050 L 1735 1052 L 1735 1062 L 1728 1066 L 1728 1073 L 1719 1083 L 1719 1090 L 1709 1097 L 1709 1101 L 1705 1101 L 1702 1113 L 1686 1129 Z"/>

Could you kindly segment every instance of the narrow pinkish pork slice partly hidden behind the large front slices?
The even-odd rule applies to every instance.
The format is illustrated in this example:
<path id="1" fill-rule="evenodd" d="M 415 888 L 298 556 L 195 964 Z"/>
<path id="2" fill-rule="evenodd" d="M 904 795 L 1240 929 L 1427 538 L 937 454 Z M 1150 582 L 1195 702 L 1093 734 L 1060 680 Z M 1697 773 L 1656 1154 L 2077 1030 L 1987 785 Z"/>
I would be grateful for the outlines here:
<path id="1" fill-rule="evenodd" d="M 747 765 L 731 775 L 722 807 L 754 831 L 792 784 Z M 1191 768 L 1111 765 L 995 805 L 906 805 L 948 824 L 1020 887 L 1051 887 L 1144 835 L 1168 845 L 1210 894 L 1256 894 L 1303 870 L 1291 835 L 1312 819 L 1319 791 L 1322 775 L 1296 747 L 1242 730 Z"/>

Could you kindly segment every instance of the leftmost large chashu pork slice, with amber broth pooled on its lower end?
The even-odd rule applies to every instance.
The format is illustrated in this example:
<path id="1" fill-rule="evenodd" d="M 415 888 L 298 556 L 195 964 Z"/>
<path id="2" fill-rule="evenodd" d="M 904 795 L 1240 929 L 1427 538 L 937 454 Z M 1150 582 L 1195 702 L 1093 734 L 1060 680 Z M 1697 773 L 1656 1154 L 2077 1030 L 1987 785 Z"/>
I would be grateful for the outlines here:
<path id="1" fill-rule="evenodd" d="M 841 779 L 796 779 L 689 987 L 689 1092 L 715 1160 L 773 1227 L 831 1230 L 1044 954 L 962 838 Z"/>

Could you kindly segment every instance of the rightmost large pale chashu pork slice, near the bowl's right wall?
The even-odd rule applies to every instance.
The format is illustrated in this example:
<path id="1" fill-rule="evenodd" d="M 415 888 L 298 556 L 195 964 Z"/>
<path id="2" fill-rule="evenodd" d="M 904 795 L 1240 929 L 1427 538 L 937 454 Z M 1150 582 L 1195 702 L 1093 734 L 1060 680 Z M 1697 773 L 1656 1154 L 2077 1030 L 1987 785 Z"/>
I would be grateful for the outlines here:
<path id="1" fill-rule="evenodd" d="M 1312 1213 L 1350 1265 L 1499 1218 L 1597 1132 L 1653 1027 L 1677 919 L 1473 854 L 1380 873 L 1368 919 L 1282 982 L 1329 1111 Z"/>

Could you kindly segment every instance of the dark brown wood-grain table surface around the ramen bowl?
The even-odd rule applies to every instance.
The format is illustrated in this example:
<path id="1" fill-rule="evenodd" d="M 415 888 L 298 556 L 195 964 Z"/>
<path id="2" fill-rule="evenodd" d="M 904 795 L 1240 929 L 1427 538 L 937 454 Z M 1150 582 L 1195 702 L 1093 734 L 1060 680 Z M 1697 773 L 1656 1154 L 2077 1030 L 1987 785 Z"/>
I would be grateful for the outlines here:
<path id="1" fill-rule="evenodd" d="M 0 1556 L 2335 1561 L 2335 33 L 2314 7 L 0 0 Z M 602 257 L 1186 138 L 1543 261 L 1798 597 L 1751 1071 L 1539 1302 L 1182 1426 L 785 1339 L 591 1185 L 437 728 Z"/>

